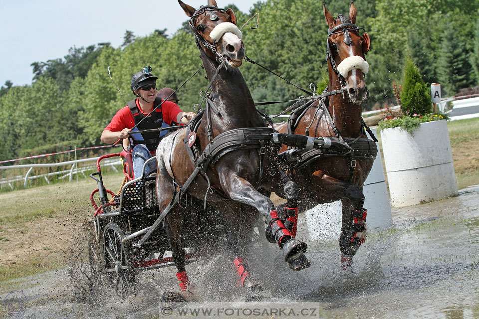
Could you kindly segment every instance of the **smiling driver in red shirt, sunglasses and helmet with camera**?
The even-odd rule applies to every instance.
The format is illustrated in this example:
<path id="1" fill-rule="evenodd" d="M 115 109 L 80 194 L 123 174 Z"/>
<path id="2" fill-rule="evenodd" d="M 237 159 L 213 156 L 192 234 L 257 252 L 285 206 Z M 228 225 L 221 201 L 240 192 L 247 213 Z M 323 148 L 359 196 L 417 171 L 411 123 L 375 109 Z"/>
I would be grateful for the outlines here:
<path id="1" fill-rule="evenodd" d="M 131 90 L 137 98 L 128 102 L 127 106 L 113 116 L 100 137 L 100 140 L 106 144 L 123 139 L 123 147 L 133 154 L 135 178 L 142 175 L 143 164 L 155 155 L 156 148 L 167 131 L 136 133 L 131 134 L 132 137 L 130 137 L 132 128 L 137 125 L 133 130 L 135 132 L 188 124 L 195 116 L 193 112 L 183 112 L 176 103 L 171 101 L 163 102 L 151 115 L 147 116 L 162 101 L 156 96 L 158 77 L 152 75 L 151 71 L 151 67 L 147 66 L 133 74 Z M 156 161 L 151 161 L 148 166 L 145 168 L 145 174 L 156 168 Z"/>

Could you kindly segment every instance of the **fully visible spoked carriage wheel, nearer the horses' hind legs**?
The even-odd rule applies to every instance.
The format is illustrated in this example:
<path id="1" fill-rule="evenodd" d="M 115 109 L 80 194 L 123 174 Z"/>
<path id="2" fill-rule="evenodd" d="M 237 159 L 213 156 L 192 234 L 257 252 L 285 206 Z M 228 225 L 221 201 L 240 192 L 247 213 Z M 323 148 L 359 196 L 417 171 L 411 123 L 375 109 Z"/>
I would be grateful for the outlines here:
<path id="1" fill-rule="evenodd" d="M 136 271 L 132 263 L 130 244 L 123 245 L 125 238 L 115 223 L 106 225 L 103 232 L 103 256 L 105 258 L 106 280 L 123 299 L 134 293 Z"/>

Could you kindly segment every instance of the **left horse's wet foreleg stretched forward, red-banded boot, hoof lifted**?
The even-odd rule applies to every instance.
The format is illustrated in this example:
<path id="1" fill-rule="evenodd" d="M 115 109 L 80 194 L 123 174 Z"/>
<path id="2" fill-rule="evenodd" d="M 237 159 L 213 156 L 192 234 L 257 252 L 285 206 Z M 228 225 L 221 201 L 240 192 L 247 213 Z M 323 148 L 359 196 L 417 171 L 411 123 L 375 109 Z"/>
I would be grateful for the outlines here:
<path id="1" fill-rule="evenodd" d="M 256 191 L 247 180 L 228 167 L 223 166 L 218 170 L 218 173 L 223 189 L 231 199 L 256 208 L 265 217 L 266 223 L 271 226 L 275 242 L 283 251 L 284 260 L 288 262 L 289 267 L 293 270 L 302 270 L 309 267 L 304 262 L 299 265 L 296 263 L 298 258 L 302 261 L 307 260 L 304 256 L 307 245 L 292 237 L 291 232 L 284 227 L 283 222 L 279 219 L 271 200 Z"/>

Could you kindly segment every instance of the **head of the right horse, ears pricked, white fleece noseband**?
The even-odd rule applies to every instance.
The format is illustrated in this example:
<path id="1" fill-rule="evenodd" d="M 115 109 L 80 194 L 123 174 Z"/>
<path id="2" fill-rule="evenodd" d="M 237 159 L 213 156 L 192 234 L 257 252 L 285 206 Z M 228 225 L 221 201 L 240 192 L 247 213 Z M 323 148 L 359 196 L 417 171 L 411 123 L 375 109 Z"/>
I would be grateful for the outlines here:
<path id="1" fill-rule="evenodd" d="M 340 86 L 347 89 L 351 102 L 359 104 L 368 97 L 364 75 L 369 71 L 365 59 L 370 48 L 369 35 L 365 32 L 361 35 L 360 31 L 364 28 L 355 24 L 357 10 L 353 2 L 349 6 L 349 18 L 339 14 L 334 19 L 325 4 L 323 10 L 329 26 L 327 60 Z"/>

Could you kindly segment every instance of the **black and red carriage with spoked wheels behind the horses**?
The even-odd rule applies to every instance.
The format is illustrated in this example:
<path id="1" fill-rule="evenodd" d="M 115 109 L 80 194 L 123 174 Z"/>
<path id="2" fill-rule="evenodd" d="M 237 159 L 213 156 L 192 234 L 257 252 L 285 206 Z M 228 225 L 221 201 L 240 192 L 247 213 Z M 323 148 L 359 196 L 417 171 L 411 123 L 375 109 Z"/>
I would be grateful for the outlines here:
<path id="1" fill-rule="evenodd" d="M 101 160 L 120 157 L 123 163 L 125 181 L 117 194 L 105 188 L 101 173 Z M 152 158 L 145 162 L 146 165 Z M 134 178 L 132 174 L 131 155 L 125 151 L 109 154 L 97 160 L 97 172 L 90 174 L 97 184 L 90 200 L 95 208 L 93 219 L 89 221 L 90 238 L 88 239 L 88 258 L 93 280 L 126 298 L 136 289 L 136 276 L 140 271 L 152 270 L 173 265 L 171 248 L 163 227 L 158 227 L 149 236 L 148 241 L 139 245 L 139 241 L 160 216 L 158 199 L 155 191 L 156 169 L 148 174 Z M 95 194 L 99 197 L 95 200 Z M 112 197 L 108 199 L 108 195 Z M 99 203 L 97 203 L 99 201 Z M 207 207 L 207 214 L 198 214 L 194 204 L 198 201 L 192 196 L 185 196 L 182 205 L 187 207 L 188 218 L 184 232 L 181 234 L 186 258 L 195 260 L 205 247 L 206 239 L 217 243 L 225 238 L 225 225 L 217 211 Z M 212 222 L 213 221 L 213 222 Z M 195 231 L 191 231 L 195 229 Z M 214 245 L 212 240 L 208 246 Z"/>

